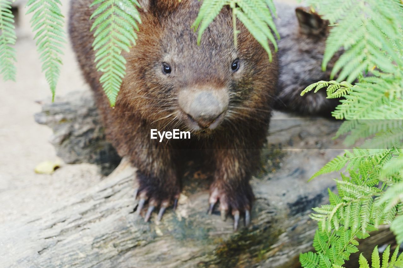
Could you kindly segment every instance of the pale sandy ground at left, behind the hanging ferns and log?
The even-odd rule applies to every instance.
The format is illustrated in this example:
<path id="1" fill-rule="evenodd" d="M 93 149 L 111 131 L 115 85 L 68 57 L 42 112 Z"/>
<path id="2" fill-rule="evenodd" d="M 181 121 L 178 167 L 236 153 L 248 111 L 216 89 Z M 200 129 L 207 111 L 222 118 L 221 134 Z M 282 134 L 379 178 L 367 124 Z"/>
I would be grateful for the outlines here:
<path id="1" fill-rule="evenodd" d="M 286 2 L 294 2 L 287 0 Z M 63 1 L 67 17 L 69 1 Z M 63 164 L 52 175 L 36 174 L 42 161 L 57 159 L 48 142 L 52 131 L 35 123 L 33 115 L 41 106 L 35 101 L 50 99 L 51 93 L 41 72 L 41 63 L 29 29 L 29 17 L 19 10 L 17 29 L 17 82 L 0 80 L 0 224 L 44 212 L 69 196 L 96 184 L 102 177 L 94 165 Z M 85 84 L 70 44 L 62 58 L 63 67 L 56 91 L 63 96 L 71 91 L 89 90 Z"/>

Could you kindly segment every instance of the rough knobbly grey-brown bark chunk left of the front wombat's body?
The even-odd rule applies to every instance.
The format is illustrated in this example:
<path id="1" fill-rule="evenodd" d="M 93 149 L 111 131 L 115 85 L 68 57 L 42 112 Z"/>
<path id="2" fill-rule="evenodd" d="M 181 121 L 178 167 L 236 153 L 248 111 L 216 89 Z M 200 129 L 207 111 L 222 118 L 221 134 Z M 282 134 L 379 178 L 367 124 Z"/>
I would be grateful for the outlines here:
<path id="1" fill-rule="evenodd" d="M 120 157 L 106 141 L 95 101 L 89 91 L 72 92 L 62 100 L 42 105 L 35 121 L 53 130 L 50 143 L 67 164 L 91 163 L 109 175 Z"/>

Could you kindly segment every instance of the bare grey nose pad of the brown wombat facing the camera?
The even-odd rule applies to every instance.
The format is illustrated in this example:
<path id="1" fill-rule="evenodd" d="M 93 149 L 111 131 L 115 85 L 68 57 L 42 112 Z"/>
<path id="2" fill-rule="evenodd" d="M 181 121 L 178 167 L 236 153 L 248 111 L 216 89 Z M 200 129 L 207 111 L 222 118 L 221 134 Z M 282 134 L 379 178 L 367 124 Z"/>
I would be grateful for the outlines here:
<path id="1" fill-rule="evenodd" d="M 201 128 L 207 128 L 220 116 L 224 108 L 211 92 L 200 92 L 190 104 L 188 114 Z"/>

